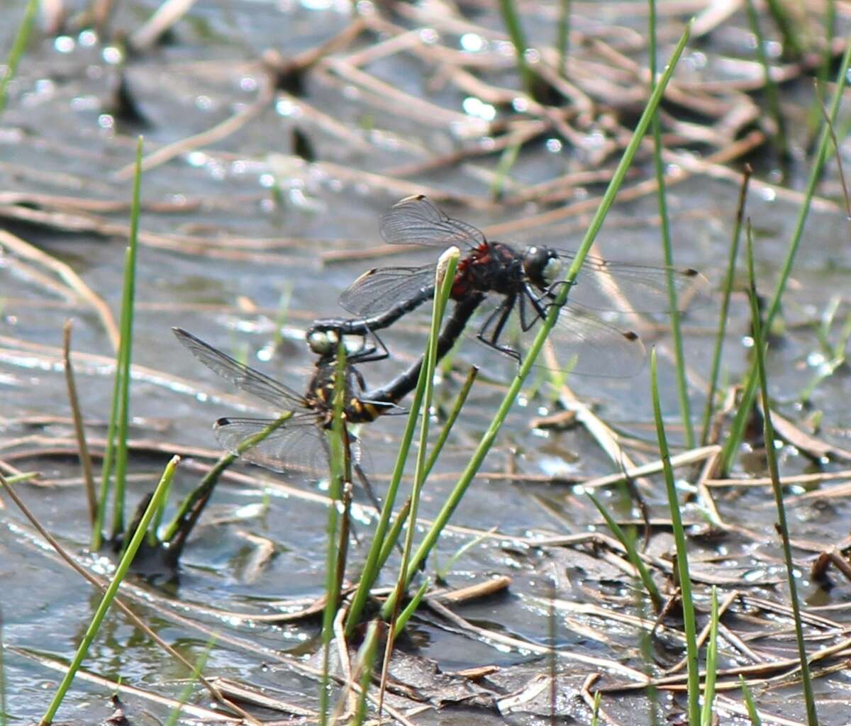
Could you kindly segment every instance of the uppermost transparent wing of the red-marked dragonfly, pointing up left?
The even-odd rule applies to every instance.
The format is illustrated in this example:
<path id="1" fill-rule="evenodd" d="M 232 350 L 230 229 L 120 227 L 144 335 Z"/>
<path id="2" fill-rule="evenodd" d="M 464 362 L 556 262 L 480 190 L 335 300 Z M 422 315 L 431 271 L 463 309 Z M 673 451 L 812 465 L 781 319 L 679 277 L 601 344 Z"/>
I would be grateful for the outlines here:
<path id="1" fill-rule="evenodd" d="M 381 237 L 388 244 L 475 248 L 485 242 L 472 225 L 448 217 L 426 197 L 406 197 L 381 217 Z"/>

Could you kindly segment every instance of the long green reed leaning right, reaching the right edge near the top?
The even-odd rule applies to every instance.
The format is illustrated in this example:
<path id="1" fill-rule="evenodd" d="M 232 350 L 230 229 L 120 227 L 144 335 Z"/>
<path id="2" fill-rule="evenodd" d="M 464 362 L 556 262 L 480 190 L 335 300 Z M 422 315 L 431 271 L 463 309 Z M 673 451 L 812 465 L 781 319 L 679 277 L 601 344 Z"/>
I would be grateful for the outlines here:
<path id="1" fill-rule="evenodd" d="M 842 94 L 845 91 L 845 84 L 848 77 L 848 65 L 851 63 L 851 42 L 848 43 L 848 46 L 845 49 L 845 53 L 842 55 L 842 63 L 839 67 L 839 72 L 837 74 L 837 83 L 836 89 L 833 94 L 833 100 L 831 100 L 831 108 L 828 112 L 828 117 L 830 119 L 830 123 L 836 123 L 837 112 L 839 111 L 839 104 L 842 101 Z M 801 243 L 803 238 L 803 230 L 804 226 L 807 222 L 807 217 L 809 214 L 809 209 L 813 201 L 813 197 L 815 194 L 815 187 L 819 183 L 821 177 L 821 170 L 825 165 L 825 158 L 827 157 L 827 148 L 830 143 L 831 134 L 830 134 L 830 124 L 823 123 L 821 129 L 821 135 L 819 139 L 819 144 L 817 147 L 815 160 L 813 163 L 813 169 L 810 170 L 809 179 L 807 181 L 806 192 L 804 193 L 804 201 L 801 205 L 801 209 L 798 212 L 797 222 L 795 224 L 795 231 L 792 233 L 791 241 L 789 243 L 789 249 L 786 251 L 786 257 L 783 263 L 783 269 L 780 271 L 780 278 L 777 281 L 777 286 L 774 289 L 774 296 L 771 300 L 771 305 L 768 307 L 768 313 L 765 317 L 765 329 L 771 330 L 771 326 L 774 324 L 774 317 L 777 316 L 777 313 L 780 312 L 780 303 L 783 299 L 783 293 L 785 292 L 786 283 L 789 280 L 789 276 L 791 275 L 792 265 L 795 262 L 795 255 L 797 254 L 798 246 Z M 756 371 L 756 361 L 751 363 L 750 369 L 748 369 L 747 377 L 745 379 L 744 391 L 742 392 L 741 403 L 739 405 L 739 409 L 736 411 L 735 418 L 733 420 L 733 425 L 730 426 L 730 433 L 726 443 L 724 443 L 724 449 L 721 455 L 721 470 L 723 472 L 728 472 L 730 466 L 733 464 L 733 460 L 736 452 L 739 449 L 739 444 L 741 443 L 742 437 L 745 432 L 745 425 L 747 423 L 748 416 L 751 414 L 751 409 L 753 407 L 754 399 L 757 394 L 757 371 Z"/>

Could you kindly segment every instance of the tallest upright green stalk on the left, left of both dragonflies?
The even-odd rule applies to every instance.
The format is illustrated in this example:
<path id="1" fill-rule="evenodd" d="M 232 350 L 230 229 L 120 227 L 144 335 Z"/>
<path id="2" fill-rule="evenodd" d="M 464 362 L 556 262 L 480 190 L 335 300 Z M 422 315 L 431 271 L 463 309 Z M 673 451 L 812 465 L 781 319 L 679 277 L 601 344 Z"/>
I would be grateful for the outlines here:
<path id="1" fill-rule="evenodd" d="M 136 251 L 139 248 L 140 189 L 142 180 L 142 137 L 136 144 L 133 201 L 130 206 L 130 238 L 124 265 L 124 294 L 121 310 L 120 390 L 118 438 L 115 464 L 115 497 L 112 500 L 112 539 L 124 531 L 124 498 L 127 488 L 127 437 L 130 418 L 130 363 L 133 360 L 133 314 L 136 293 Z"/>

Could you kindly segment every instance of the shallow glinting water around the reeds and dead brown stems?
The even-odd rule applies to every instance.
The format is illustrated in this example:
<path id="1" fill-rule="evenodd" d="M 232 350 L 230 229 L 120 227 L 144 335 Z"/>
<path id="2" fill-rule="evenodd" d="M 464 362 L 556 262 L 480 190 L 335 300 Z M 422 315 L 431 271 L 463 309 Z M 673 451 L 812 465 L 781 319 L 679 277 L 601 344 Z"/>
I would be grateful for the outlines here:
<path id="1" fill-rule="evenodd" d="M 113 27 L 133 29 L 155 6 L 156 3 L 120 4 Z M 9 19 L 17 18 L 20 7 L 17 11 L 7 10 L 6 14 Z M 133 161 L 136 134 L 144 134 L 147 154 L 220 123 L 251 104 L 258 94 L 264 77 L 256 60 L 260 51 L 277 48 L 292 54 L 311 49 L 347 26 L 348 11 L 345 3 L 339 7 L 331 3 L 197 3 L 189 16 L 175 26 L 167 44 L 134 58 L 126 68 L 127 83 L 146 118 L 144 124 L 122 121 L 111 112 L 117 68 L 108 62 L 113 57 L 110 47 L 99 43 L 88 31 L 75 31 L 58 40 L 34 39 L 19 77 L 12 84 L 0 127 L 3 191 L 126 202 L 130 182 L 126 175 L 117 178 L 117 173 Z M 576 27 L 590 32 L 594 23 L 588 9 L 578 8 L 576 12 Z M 469 20 L 500 27 L 490 10 L 477 12 Z M 669 22 L 672 27 L 680 27 Z M 623 20 L 622 26 L 640 28 L 642 23 L 640 18 L 633 18 Z M 12 21 L 3 24 L 0 37 L 4 41 L 8 42 L 15 25 Z M 738 16 L 734 25 L 744 27 Z M 537 42 L 551 29 L 539 18 L 537 23 L 530 22 L 528 30 L 532 41 Z M 728 45 L 744 37 L 740 30 L 719 31 L 718 36 L 714 38 L 717 48 L 709 52 L 711 57 L 712 52 L 732 53 Z M 472 42 L 470 38 L 467 41 Z M 355 46 L 367 47 L 365 43 Z M 449 153 L 459 148 L 464 134 L 472 138 L 482 128 L 481 121 L 463 113 L 465 94 L 451 85 L 441 86 L 431 75 L 433 69 L 426 68 L 413 55 L 380 58 L 369 63 L 368 70 L 418 98 L 435 101 L 445 111 L 445 118 L 426 114 L 414 118 L 408 112 L 413 109 L 393 111 L 392 103 L 357 88 L 355 83 L 341 81 L 323 68 L 306 76 L 302 101 L 279 96 L 277 103 L 267 104 L 225 139 L 181 154 L 144 175 L 143 200 L 171 203 L 174 209 L 147 208 L 141 215 L 140 226 L 149 237 L 140 248 L 137 277 L 134 365 L 138 368 L 132 391 L 132 413 L 136 418 L 132 438 L 165 442 L 171 447 L 203 447 L 215 455 L 210 423 L 221 415 L 239 413 L 234 397 L 226 395 L 233 391 L 198 365 L 173 339 L 169 327 L 180 325 L 227 352 L 245 357 L 255 367 L 300 391 L 312 366 L 300 338 L 306 324 L 315 317 L 339 315 L 338 294 L 368 267 L 419 264 L 431 259 L 427 254 L 348 261 L 331 256 L 378 245 L 380 214 L 409 193 L 398 179 L 395 186 L 382 186 L 366 173 L 384 173 L 427 159 L 431 154 Z M 510 78 L 509 71 L 502 75 L 503 80 Z M 794 93 L 805 99 L 808 88 L 808 82 L 801 81 Z M 294 147 L 294 129 L 307 135 L 317 163 L 289 156 Z M 577 168 L 580 154 L 570 154 L 567 148 L 550 151 L 540 142 L 524 147 L 511 172 L 517 189 Z M 842 154 L 848 157 L 847 143 Z M 494 156 L 473 157 L 460 165 L 414 174 L 404 181 L 410 186 L 419 184 L 426 191 L 444 192 L 456 201 L 473 200 L 472 204 L 447 203 L 446 207 L 450 214 L 483 228 L 551 209 L 534 203 L 489 203 L 488 187 L 496 163 Z M 801 164 L 796 170 L 791 187 L 801 188 L 806 168 L 806 164 Z M 645 164 L 639 175 L 649 172 Z M 825 196 L 838 198 L 830 193 L 837 191 L 837 179 L 837 169 L 831 164 L 824 182 Z M 596 186 L 580 187 L 568 202 L 581 201 L 601 191 Z M 726 264 L 737 196 L 733 180 L 711 179 L 707 175 L 693 176 L 670 190 L 677 264 L 700 269 L 710 278 L 713 289 L 717 289 Z M 37 203 L 27 197 L 23 206 L 37 207 Z M 797 210 L 796 199 L 784 198 L 769 188 L 755 189 L 748 200 L 757 243 L 757 275 L 764 294 L 774 287 Z M 77 210 L 71 213 L 80 214 Z M 71 266 L 117 315 L 125 244 L 121 234 L 104 236 L 55 226 L 32 226 L 3 214 L 5 229 Z M 126 209 L 94 214 L 100 214 L 101 221 L 127 224 Z M 659 228 L 654 222 L 657 214 L 653 196 L 616 205 L 599 238 L 599 254 L 659 265 Z M 500 238 L 518 244 L 575 247 L 584 225 L 585 221 L 572 216 L 550 225 L 500 234 Z M 0 419 L 0 459 L 12 461 L 23 471 L 41 472 L 46 484 L 20 485 L 21 496 L 70 552 L 102 570 L 106 565 L 93 563 L 86 553 L 89 528 L 76 460 L 67 454 L 19 460 L 14 459 L 14 454 L 28 449 L 43 453 L 43 449 L 58 445 L 58 439 L 65 442 L 72 437 L 59 350 L 62 325 L 69 317 L 74 321 L 73 349 L 80 354 L 75 360 L 77 386 L 89 421 L 89 436 L 105 436 L 106 426 L 98 421 L 105 420 L 109 411 L 110 341 L 85 301 L 60 287 L 58 278 L 39 264 L 25 265 L 23 261 L 20 252 L 13 250 L 0 255 L 0 395 L 5 404 Z M 787 329 L 772 347 L 768 374 L 780 414 L 805 428 L 808 415 L 820 412 L 820 439 L 851 449 L 851 419 L 846 405 L 851 382 L 847 369 L 839 369 L 814 389 L 810 408 L 803 409 L 799 403 L 802 388 L 820 364 L 814 323 L 818 323 L 836 295 L 846 293 L 848 266 L 848 221 L 836 209 L 814 209 L 785 297 Z M 741 273 L 740 280 L 744 282 Z M 736 380 L 748 362 L 749 312 L 743 289 L 742 284 L 731 306 L 725 380 Z M 695 417 L 704 405 L 702 391 L 710 364 L 717 304 L 718 296 L 713 294 L 709 304 L 688 312 L 683 322 L 688 363 L 694 371 Z M 274 321 L 282 306 L 286 327 L 283 343 L 276 350 L 271 343 Z M 831 329 L 833 340 L 847 315 L 848 303 L 842 300 L 837 324 Z M 407 364 L 419 356 L 425 322 L 425 315 L 412 317 L 386 335 L 395 358 L 364 370 L 370 383 L 386 380 L 400 369 L 400 361 Z M 663 407 L 671 424 L 671 437 L 681 441 L 670 338 L 664 330 L 655 338 L 648 330 L 645 337 L 654 339 L 658 346 Z M 481 346 L 470 342 L 456 358 L 456 369 L 462 373 L 448 376 L 438 388 L 440 403 L 451 403 L 464 364 L 473 361 L 483 364 L 483 374 L 489 379 L 506 381 L 511 373 L 511 363 L 488 357 Z M 181 388 L 175 377 L 199 382 L 203 392 L 223 395 L 220 400 L 198 397 L 194 389 Z M 610 426 L 654 442 L 646 369 L 631 379 L 573 377 L 569 383 Z M 424 520 L 431 519 L 442 505 L 454 483 L 454 472 L 465 466 L 500 400 L 500 386 L 480 382 L 474 388 L 471 402 L 428 484 L 420 509 Z M 268 413 L 262 404 L 248 398 L 243 398 L 242 409 Z M 559 602 L 600 604 L 591 592 L 605 592 L 609 608 L 632 611 L 635 597 L 623 586 L 623 573 L 614 568 L 609 571 L 610 565 L 602 563 L 591 549 L 528 546 L 518 539 L 602 531 L 590 502 L 566 485 L 508 481 L 496 476 L 519 472 L 530 478 L 575 478 L 617 471 L 584 428 L 563 432 L 529 429 L 531 417 L 551 410 L 549 399 L 544 397 L 524 397 L 515 406 L 483 466 L 484 472 L 494 476 L 478 477 L 454 514 L 454 525 L 495 530 L 451 565 L 447 578 L 450 586 L 462 587 L 495 575 L 509 575 L 512 579 L 508 592 L 455 610 L 479 626 L 527 638 L 531 643 L 549 643 L 554 637 L 565 653 L 620 660 L 643 669 L 634 628 L 619 629 L 594 615 L 568 614 L 561 609 L 555 610 L 555 624 L 551 626 L 544 604 L 551 597 L 555 573 Z M 61 420 L 25 420 L 45 415 Z M 402 421 L 380 420 L 363 430 L 368 468 L 379 488 L 386 485 Z M 780 455 L 785 475 L 820 469 L 839 471 L 845 466 L 841 460 L 816 464 L 788 443 Z M 163 452 L 134 455 L 131 473 L 139 477 L 131 484 L 131 508 L 156 483 L 167 458 Z M 645 460 L 654 458 L 645 454 Z M 642 460 L 641 454 L 636 454 L 636 459 Z M 252 623 L 248 616 L 274 611 L 273 603 L 278 600 L 318 597 L 323 592 L 324 560 L 316 553 L 324 551 L 326 506 L 317 496 L 300 495 L 322 494 L 323 490 L 298 474 L 277 476 L 255 467 L 241 467 L 240 471 L 256 478 L 250 485 L 228 481 L 220 484 L 186 548 L 179 584 L 139 583 L 139 589 L 134 591 L 137 610 L 190 660 L 202 653 L 208 629 L 220 632 L 205 669 L 208 676 L 265 684 L 277 689 L 283 700 L 313 707 L 316 681 L 292 665 L 276 663 L 273 655 L 288 655 L 299 663 L 305 662 L 316 651 L 316 623 L 268 625 Z M 764 476 L 762 457 L 743 455 L 736 473 Z M 683 470 L 683 477 L 686 476 Z M 688 473 L 688 477 L 694 482 L 694 474 Z M 175 494 L 190 491 L 198 479 L 195 471 L 180 471 L 175 479 Z M 662 483 L 658 477 L 649 481 L 652 488 L 643 494 L 650 514 L 667 517 Z M 837 483 L 841 482 L 822 486 Z M 785 599 L 785 595 L 780 597 L 785 588 L 772 584 L 782 579 L 784 570 L 778 543 L 770 537 L 776 515 L 768 489 L 715 492 L 725 523 L 765 534 L 766 539 L 755 541 L 734 533 L 720 542 L 695 537 L 691 541 L 695 561 L 721 557 L 731 575 L 745 574 L 751 581 L 749 594 Z M 801 492 L 802 489 L 790 491 Z M 606 491 L 605 498 L 622 517 L 637 516 L 620 489 Z M 4 501 L 7 509 L 0 513 L 4 582 L 0 604 L 7 646 L 7 703 L 9 716 L 27 723 L 42 715 L 60 680 L 59 672 L 37 662 L 34 656 L 70 659 L 98 598 L 22 523 L 11 502 Z M 355 563 L 352 577 L 357 574 L 357 563 L 368 544 L 368 524 L 364 520 L 369 520 L 370 515 L 366 501 L 358 496 L 357 502 L 363 507 L 356 508 L 355 528 L 360 543 L 353 544 L 351 550 L 351 562 Z M 789 512 L 792 536 L 819 546 L 837 544 L 847 534 L 848 515 L 847 497 L 803 500 Z M 686 507 L 684 516 L 689 522 L 703 521 L 694 506 Z M 438 548 L 437 565 L 443 567 L 471 537 L 475 535 L 469 531 L 448 533 Z M 269 546 L 272 556 L 266 559 L 264 553 Z M 654 530 L 650 549 L 659 553 L 672 550 L 667 528 Z M 825 616 L 846 623 L 842 606 L 851 597 L 851 586 L 836 575 L 835 587 L 820 588 L 808 581 L 811 553 L 797 550 L 796 554 L 802 568 L 802 600 L 813 607 L 836 607 Z M 700 569 L 701 565 L 695 567 Z M 713 575 L 717 575 L 717 570 L 711 570 Z M 382 584 L 389 584 L 390 578 L 388 574 Z M 701 605 L 705 606 L 706 601 Z M 189 620 L 181 621 L 178 615 Z M 744 620 L 737 621 L 743 628 L 747 626 Z M 783 625 L 787 625 L 785 621 Z M 533 672 L 545 672 L 547 667 L 528 652 L 447 627 L 435 615 L 423 615 L 411 630 L 406 650 L 436 660 L 445 672 L 483 664 L 500 666 L 506 678 L 504 692 L 523 688 Z M 605 639 L 601 642 L 594 634 L 604 634 Z M 260 653 L 252 652 L 247 643 L 254 643 Z M 676 643 L 672 643 L 667 642 L 665 652 L 657 654 L 663 665 L 671 665 L 679 657 Z M 781 637 L 764 645 L 764 652 L 784 657 L 793 657 L 793 649 L 794 643 Z M 734 662 L 732 658 L 728 661 L 731 665 Z M 520 664 L 529 664 L 528 672 L 522 673 Z M 172 697 L 180 695 L 184 685 L 181 679 L 187 675 L 120 615 L 107 618 L 85 666 L 101 677 L 120 677 L 122 683 Z M 569 658 L 557 667 L 566 694 L 576 686 L 576 677 L 591 672 L 590 666 Z M 816 681 L 819 697 L 824 701 L 820 706 L 821 723 L 848 723 L 846 681 L 843 672 Z M 72 723 L 100 721 L 112 711 L 106 702 L 110 693 L 108 687 L 78 680 L 60 711 L 61 719 Z M 768 712 L 802 720 L 798 694 L 795 685 L 767 690 L 759 695 L 760 705 Z M 138 695 L 122 698 L 134 723 L 162 719 L 168 713 L 167 707 Z M 575 695 L 565 698 L 572 704 L 567 710 L 580 723 L 587 723 L 587 708 L 575 700 Z M 668 702 L 667 696 L 661 698 L 663 703 Z M 198 704 L 205 705 L 207 700 L 201 692 L 193 696 Z M 603 703 L 620 723 L 645 723 L 648 706 L 643 697 L 606 696 Z M 455 707 L 445 714 L 421 713 L 416 722 L 448 723 L 446 719 L 456 717 L 465 723 L 498 723 L 504 718 L 511 723 L 545 723 L 547 712 L 530 709 L 502 716 Z"/>

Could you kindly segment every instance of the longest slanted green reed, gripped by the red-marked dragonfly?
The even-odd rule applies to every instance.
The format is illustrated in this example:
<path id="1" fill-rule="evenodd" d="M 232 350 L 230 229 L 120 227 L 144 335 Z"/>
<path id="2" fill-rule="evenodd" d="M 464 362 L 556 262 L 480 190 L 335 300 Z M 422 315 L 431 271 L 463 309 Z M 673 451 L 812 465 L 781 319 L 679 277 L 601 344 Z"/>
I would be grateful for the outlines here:
<path id="1" fill-rule="evenodd" d="M 632 134 L 630 143 L 626 146 L 623 157 L 621 157 L 617 169 L 614 170 L 612 180 L 608 183 L 608 188 L 603 194 L 600 206 L 597 208 L 597 212 L 595 212 L 594 217 L 591 219 L 588 230 L 585 232 L 585 237 L 580 244 L 580 249 L 577 251 L 574 261 L 569 267 L 564 278 L 564 284 L 559 286 L 559 291 L 555 300 L 552 302 L 550 311 L 544 318 L 541 327 L 538 330 L 538 334 L 535 336 L 531 346 L 529 346 L 526 358 L 521 364 L 520 369 L 517 371 L 517 376 L 513 381 L 511 381 L 511 385 L 508 387 L 508 391 L 505 393 L 505 397 L 503 398 L 502 403 L 500 403 L 500 408 L 494 415 L 494 419 L 491 420 L 488 430 L 484 433 L 481 442 L 471 457 L 470 462 L 467 464 L 464 472 L 462 472 L 453 491 L 449 494 L 448 500 L 444 503 L 441 511 L 438 512 L 431 529 L 429 529 L 426 533 L 425 538 L 420 542 L 420 546 L 414 553 L 414 558 L 408 567 L 408 575 L 412 575 L 420 567 L 420 564 L 425 561 L 426 557 L 428 557 L 431 549 L 437 544 L 437 540 L 439 539 L 443 528 L 448 523 L 449 518 L 452 517 L 455 508 L 460 504 L 461 498 L 464 496 L 467 487 L 470 486 L 473 477 L 476 476 L 476 473 L 482 466 L 488 451 L 494 445 L 496 435 L 500 431 L 500 426 L 502 426 L 503 421 L 505 421 L 505 418 L 509 414 L 511 406 L 514 405 L 514 402 L 517 399 L 517 394 L 523 387 L 523 381 L 526 380 L 529 371 L 532 369 L 541 347 L 544 346 L 547 335 L 556 324 L 558 313 L 568 299 L 570 286 L 574 283 L 576 275 L 579 273 L 580 267 L 585 261 L 585 256 L 591 249 L 591 245 L 597 238 L 597 233 L 600 232 L 600 228 L 603 226 L 603 221 L 606 219 L 608 210 L 611 209 L 611 206 L 614 203 L 614 197 L 616 197 L 617 192 L 620 189 L 620 185 L 623 183 L 626 172 L 630 168 L 632 159 L 635 157 L 636 151 L 638 146 L 641 144 L 644 134 L 647 133 L 648 126 L 650 125 L 650 121 L 653 118 L 657 106 L 659 106 L 662 94 L 665 93 L 665 87 L 671 79 L 671 74 L 673 73 L 674 68 L 677 66 L 677 61 L 679 60 L 680 55 L 683 54 L 683 48 L 685 48 L 685 44 L 688 41 L 690 31 L 691 24 L 689 23 L 683 32 L 683 37 L 681 37 L 679 43 L 677 43 L 677 48 L 674 49 L 673 54 L 671 54 L 671 60 L 665 68 L 665 72 L 662 73 L 660 83 L 656 86 L 653 93 L 650 94 L 648 104 L 644 108 L 641 117 L 638 119 L 638 123 Z"/>

